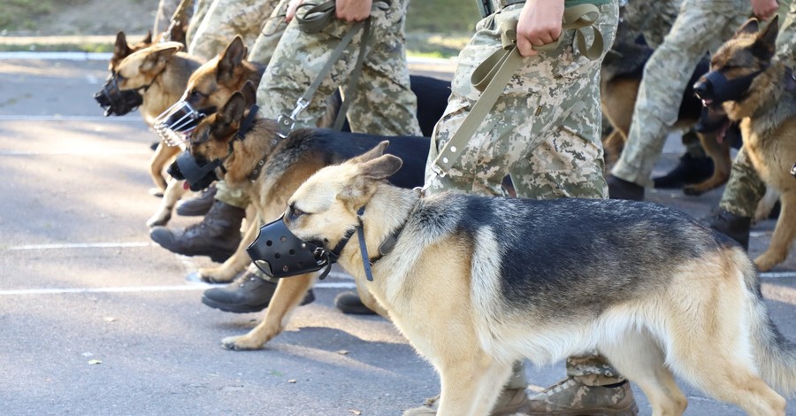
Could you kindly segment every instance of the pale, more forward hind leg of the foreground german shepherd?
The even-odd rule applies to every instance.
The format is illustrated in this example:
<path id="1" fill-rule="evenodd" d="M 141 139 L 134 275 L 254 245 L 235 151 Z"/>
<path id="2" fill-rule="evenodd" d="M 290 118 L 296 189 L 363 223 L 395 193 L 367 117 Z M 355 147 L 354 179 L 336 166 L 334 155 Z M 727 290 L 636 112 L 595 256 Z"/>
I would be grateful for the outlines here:
<path id="1" fill-rule="evenodd" d="M 655 416 L 677 416 L 685 412 L 688 401 L 647 329 L 626 333 L 616 342 L 601 344 L 599 350 L 620 374 L 639 385 Z"/>

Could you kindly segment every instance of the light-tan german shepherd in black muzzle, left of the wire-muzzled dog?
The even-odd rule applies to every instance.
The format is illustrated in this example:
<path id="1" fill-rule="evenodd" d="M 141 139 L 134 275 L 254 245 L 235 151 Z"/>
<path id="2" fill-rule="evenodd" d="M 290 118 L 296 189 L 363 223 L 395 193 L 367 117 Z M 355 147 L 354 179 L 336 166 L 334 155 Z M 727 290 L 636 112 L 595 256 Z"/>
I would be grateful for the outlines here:
<path id="1" fill-rule="evenodd" d="M 127 47 L 118 36 L 117 46 L 122 43 Z M 188 77 L 202 64 L 201 59 L 180 52 L 181 48 L 179 42 L 153 43 L 123 58 L 95 94 L 97 103 L 106 109 L 105 115 L 122 116 L 139 108 L 144 122 L 153 126 L 157 116 L 180 99 Z M 177 152 L 158 144 L 149 161 L 149 175 L 157 187 L 154 193 L 165 190 L 164 168 Z"/>

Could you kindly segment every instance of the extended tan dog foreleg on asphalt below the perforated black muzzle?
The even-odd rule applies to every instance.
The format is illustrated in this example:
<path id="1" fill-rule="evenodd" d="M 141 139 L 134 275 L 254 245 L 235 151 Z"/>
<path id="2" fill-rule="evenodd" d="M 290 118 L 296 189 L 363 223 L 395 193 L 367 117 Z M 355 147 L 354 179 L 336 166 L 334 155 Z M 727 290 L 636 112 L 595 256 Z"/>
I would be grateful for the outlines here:
<path id="1" fill-rule="evenodd" d="M 280 279 L 271 304 L 265 311 L 265 317 L 249 334 L 229 336 L 221 341 L 227 350 L 245 351 L 259 350 L 264 344 L 279 335 L 287 325 L 287 320 L 295 311 L 296 306 L 310 290 L 315 281 L 315 273 Z"/>

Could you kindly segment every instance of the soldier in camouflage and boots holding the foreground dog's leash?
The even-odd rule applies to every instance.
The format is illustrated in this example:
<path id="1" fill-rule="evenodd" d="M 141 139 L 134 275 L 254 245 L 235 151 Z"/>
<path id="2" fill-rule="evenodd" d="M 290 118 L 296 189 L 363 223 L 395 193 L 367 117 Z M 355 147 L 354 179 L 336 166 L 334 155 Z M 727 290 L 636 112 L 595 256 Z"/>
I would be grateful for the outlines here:
<path id="1" fill-rule="evenodd" d="M 501 182 L 508 174 L 519 197 L 606 197 L 599 91 L 605 50 L 594 60 L 574 50 L 573 33 L 562 32 L 564 0 L 486 3 L 486 12 L 492 13 L 485 13 L 471 42 L 459 54 L 448 108 L 434 129 L 426 166 L 427 192 L 506 195 Z M 599 7 L 600 17 L 594 26 L 611 44 L 618 20 L 616 1 L 578 2 L 582 3 Z M 519 21 L 517 47 L 526 58 L 464 149 L 455 150 L 462 155 L 458 162 L 440 176 L 434 173 L 433 161 L 480 96 L 471 85 L 471 74 L 501 49 L 501 24 L 511 19 Z M 562 42 L 555 50 L 532 49 L 559 38 Z M 598 409 L 601 414 L 636 412 L 629 383 L 603 358 L 570 358 L 567 374 L 566 380 L 528 399 L 523 366 L 517 363 L 492 414 L 589 414 Z M 404 415 L 434 414 L 435 404 L 431 399 Z"/>

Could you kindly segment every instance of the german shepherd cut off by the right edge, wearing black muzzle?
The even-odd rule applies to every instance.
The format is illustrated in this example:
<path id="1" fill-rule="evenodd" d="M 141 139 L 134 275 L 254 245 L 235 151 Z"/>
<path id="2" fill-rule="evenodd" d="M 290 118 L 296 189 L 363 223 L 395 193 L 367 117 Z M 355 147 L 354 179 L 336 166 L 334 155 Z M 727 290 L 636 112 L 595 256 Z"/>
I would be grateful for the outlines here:
<path id="1" fill-rule="evenodd" d="M 796 237 L 796 78 L 775 56 L 777 17 L 764 29 L 747 20 L 716 51 L 711 72 L 694 87 L 706 104 L 723 104 L 739 121 L 746 151 L 763 181 L 780 193 L 781 209 L 768 250 L 754 259 L 761 271 L 782 263 Z"/>

